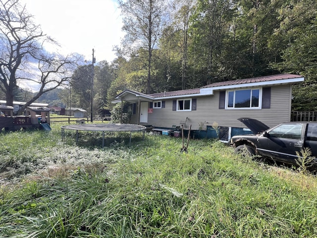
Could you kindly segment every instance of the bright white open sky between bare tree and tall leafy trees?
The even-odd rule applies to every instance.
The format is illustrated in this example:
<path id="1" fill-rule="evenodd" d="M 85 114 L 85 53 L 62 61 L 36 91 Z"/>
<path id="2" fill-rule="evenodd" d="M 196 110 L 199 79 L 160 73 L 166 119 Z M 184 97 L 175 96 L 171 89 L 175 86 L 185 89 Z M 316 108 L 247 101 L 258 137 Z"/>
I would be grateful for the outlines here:
<path id="1" fill-rule="evenodd" d="M 116 0 L 20 0 L 42 31 L 56 40 L 66 55 L 79 53 L 92 60 L 114 60 L 112 51 L 124 36 Z M 54 49 L 48 49 L 54 51 Z"/>

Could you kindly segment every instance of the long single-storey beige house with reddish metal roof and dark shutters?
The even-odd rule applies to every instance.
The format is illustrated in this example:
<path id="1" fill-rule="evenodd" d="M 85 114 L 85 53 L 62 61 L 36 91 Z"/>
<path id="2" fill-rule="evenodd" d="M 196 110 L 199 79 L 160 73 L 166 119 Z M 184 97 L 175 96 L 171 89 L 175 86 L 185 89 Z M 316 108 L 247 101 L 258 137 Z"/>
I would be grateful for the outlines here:
<path id="1" fill-rule="evenodd" d="M 229 140 L 250 133 L 238 118 L 258 119 L 269 127 L 290 121 L 292 85 L 303 81 L 301 75 L 277 74 L 154 94 L 124 90 L 113 102 L 131 103 L 130 123 L 187 129 L 191 125 L 203 136 L 218 132 L 220 139 Z"/>

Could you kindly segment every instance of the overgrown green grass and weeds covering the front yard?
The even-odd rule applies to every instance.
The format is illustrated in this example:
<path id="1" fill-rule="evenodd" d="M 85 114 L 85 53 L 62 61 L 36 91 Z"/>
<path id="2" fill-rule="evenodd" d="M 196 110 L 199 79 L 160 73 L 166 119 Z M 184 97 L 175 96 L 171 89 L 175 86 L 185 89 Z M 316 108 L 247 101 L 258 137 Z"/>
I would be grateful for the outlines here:
<path id="1" fill-rule="evenodd" d="M 78 146 L 67 133 L 0 135 L 0 237 L 316 237 L 314 175 L 218 141 L 192 140 L 184 153 L 181 138 L 135 133 L 129 147 L 109 134 L 101 148 L 98 133 Z"/>

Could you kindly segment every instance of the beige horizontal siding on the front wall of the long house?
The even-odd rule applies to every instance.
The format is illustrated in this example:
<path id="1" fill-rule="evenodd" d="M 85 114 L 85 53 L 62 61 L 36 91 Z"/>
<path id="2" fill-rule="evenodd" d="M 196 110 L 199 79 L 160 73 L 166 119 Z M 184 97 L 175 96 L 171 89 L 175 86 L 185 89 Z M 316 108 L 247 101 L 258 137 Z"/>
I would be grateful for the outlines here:
<path id="1" fill-rule="evenodd" d="M 148 115 L 148 124 L 157 127 L 179 126 L 181 121 L 187 119 L 187 126 L 197 130 L 200 126 L 206 129 L 207 125 L 214 122 L 219 126 L 245 127 L 238 118 L 248 117 L 258 119 L 268 126 L 274 126 L 281 122 L 290 121 L 291 111 L 291 87 L 281 85 L 271 87 L 271 102 L 269 109 L 261 110 L 225 110 L 219 107 L 219 92 L 206 97 L 197 97 L 197 110 L 191 112 L 172 111 L 173 100 L 165 100 L 165 108 L 153 109 Z M 195 98 L 195 97 L 192 97 Z M 164 101 L 164 100 L 163 100 Z M 137 123 L 137 116 L 133 115 L 131 123 Z"/>

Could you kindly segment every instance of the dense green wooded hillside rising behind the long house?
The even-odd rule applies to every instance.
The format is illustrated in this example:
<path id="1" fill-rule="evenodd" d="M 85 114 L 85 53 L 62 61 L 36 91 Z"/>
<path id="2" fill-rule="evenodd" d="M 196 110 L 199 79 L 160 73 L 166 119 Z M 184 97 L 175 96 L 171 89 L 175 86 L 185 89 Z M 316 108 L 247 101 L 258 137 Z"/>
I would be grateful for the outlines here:
<path id="1" fill-rule="evenodd" d="M 294 109 L 317 110 L 317 1 L 127 0 L 120 8 L 127 34 L 108 98 L 127 87 L 154 93 L 287 72 L 305 77 Z"/>

